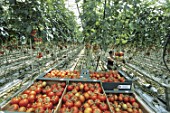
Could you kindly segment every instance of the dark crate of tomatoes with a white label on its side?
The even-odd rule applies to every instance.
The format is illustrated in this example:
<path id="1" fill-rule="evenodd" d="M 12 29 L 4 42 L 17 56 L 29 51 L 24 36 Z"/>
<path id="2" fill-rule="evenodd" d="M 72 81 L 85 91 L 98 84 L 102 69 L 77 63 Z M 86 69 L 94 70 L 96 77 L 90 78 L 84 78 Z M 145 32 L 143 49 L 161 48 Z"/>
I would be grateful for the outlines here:
<path id="1" fill-rule="evenodd" d="M 104 90 L 131 90 L 132 80 L 120 71 L 90 72 L 90 78 L 101 80 Z"/>

